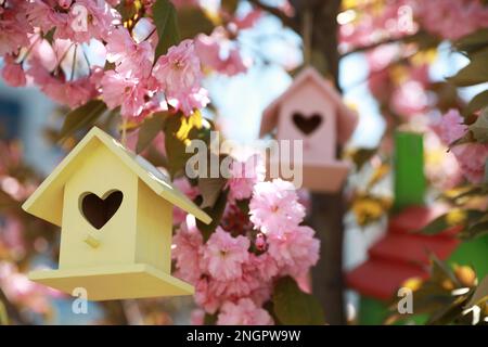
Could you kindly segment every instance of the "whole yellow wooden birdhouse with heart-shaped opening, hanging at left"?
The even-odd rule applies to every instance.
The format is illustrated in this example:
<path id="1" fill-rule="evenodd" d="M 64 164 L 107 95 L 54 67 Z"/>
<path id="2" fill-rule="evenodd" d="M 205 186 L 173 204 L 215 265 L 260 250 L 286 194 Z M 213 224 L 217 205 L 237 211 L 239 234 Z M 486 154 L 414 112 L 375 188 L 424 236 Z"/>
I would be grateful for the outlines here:
<path id="1" fill-rule="evenodd" d="M 211 221 L 147 160 L 91 129 L 23 205 L 61 227 L 59 269 L 29 279 L 85 288 L 90 300 L 193 294 L 171 277 L 174 206 Z"/>

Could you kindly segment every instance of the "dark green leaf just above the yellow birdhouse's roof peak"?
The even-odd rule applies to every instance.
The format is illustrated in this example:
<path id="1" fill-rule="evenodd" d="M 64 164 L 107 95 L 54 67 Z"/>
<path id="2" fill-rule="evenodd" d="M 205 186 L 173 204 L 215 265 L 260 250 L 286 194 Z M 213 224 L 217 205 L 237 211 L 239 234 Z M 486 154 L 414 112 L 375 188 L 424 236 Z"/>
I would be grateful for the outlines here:
<path id="1" fill-rule="evenodd" d="M 90 127 L 105 111 L 106 105 L 103 101 L 90 100 L 85 105 L 69 112 L 61 128 L 60 141 L 78 130 Z"/>

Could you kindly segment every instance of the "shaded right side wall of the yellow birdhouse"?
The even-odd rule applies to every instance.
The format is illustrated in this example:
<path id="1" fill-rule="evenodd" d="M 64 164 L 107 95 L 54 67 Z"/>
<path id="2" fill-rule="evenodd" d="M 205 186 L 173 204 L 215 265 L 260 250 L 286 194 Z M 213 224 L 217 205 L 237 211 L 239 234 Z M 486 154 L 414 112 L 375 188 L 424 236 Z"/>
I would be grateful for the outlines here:
<path id="1" fill-rule="evenodd" d="M 172 209 L 139 180 L 136 262 L 171 272 Z"/>

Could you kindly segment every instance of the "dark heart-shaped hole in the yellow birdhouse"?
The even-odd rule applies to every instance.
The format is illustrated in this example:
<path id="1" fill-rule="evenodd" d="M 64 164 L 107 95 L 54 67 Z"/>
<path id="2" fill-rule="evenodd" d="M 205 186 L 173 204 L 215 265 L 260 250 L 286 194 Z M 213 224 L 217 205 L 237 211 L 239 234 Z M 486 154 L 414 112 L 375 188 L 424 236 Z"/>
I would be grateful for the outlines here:
<path id="1" fill-rule="evenodd" d="M 85 219 L 99 230 L 114 217 L 124 198 L 120 191 L 112 191 L 105 198 L 100 198 L 93 193 L 85 193 L 81 196 L 81 213 Z"/>

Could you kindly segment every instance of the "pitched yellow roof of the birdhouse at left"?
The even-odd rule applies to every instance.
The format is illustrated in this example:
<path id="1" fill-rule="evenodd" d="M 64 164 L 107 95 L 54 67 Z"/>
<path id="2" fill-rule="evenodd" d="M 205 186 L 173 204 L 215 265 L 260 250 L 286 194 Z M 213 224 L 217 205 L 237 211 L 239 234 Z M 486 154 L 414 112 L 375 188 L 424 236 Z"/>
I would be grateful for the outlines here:
<path id="1" fill-rule="evenodd" d="M 59 202 L 63 201 L 65 183 L 73 175 L 76 175 L 76 168 L 82 165 L 84 158 L 90 156 L 93 149 L 100 144 L 115 154 L 154 193 L 205 223 L 211 221 L 207 214 L 169 182 L 166 175 L 97 127 L 87 133 L 22 207 L 34 216 L 61 226 L 63 210 L 53 206 L 63 206 Z"/>

